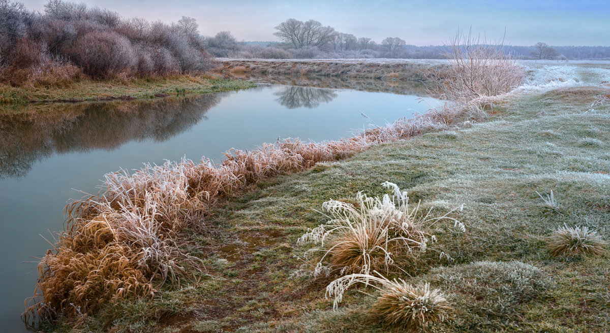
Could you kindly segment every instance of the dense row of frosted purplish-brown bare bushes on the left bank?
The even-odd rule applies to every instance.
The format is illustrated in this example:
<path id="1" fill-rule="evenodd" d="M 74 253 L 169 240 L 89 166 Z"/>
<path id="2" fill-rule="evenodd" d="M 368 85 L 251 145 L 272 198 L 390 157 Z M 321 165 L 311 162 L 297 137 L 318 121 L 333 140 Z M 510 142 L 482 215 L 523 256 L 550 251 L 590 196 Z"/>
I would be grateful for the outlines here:
<path id="1" fill-rule="evenodd" d="M 0 81 L 54 83 L 171 75 L 212 67 L 195 19 L 178 23 L 125 19 L 85 4 L 49 0 L 43 13 L 0 0 Z"/>

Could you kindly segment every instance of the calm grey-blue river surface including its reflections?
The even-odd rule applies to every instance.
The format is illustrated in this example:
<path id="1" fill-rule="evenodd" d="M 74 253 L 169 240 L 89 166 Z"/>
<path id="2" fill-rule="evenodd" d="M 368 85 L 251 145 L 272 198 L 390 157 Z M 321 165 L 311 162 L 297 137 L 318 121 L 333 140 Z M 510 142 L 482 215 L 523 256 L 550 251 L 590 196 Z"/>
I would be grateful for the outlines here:
<path id="1" fill-rule="evenodd" d="M 63 207 L 104 174 L 184 156 L 220 159 L 279 138 L 339 139 L 422 113 L 417 96 L 286 85 L 148 102 L 79 103 L 0 114 L 0 331 L 25 331 L 37 259 L 63 230 Z M 40 107 L 38 107 L 40 108 Z M 50 107 L 49 107 L 50 108 Z"/>

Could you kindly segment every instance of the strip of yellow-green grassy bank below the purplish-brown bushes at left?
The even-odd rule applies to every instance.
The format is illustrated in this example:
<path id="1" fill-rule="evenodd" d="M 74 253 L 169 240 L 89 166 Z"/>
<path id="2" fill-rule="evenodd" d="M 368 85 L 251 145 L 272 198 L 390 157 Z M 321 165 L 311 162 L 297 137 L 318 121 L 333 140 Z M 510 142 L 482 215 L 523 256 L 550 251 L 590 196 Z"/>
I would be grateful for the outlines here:
<path id="1" fill-rule="evenodd" d="M 217 93 L 253 88 L 251 82 L 216 79 L 205 75 L 128 80 L 79 80 L 65 86 L 0 85 L 0 103 L 82 102 L 132 100 L 165 96 Z"/>

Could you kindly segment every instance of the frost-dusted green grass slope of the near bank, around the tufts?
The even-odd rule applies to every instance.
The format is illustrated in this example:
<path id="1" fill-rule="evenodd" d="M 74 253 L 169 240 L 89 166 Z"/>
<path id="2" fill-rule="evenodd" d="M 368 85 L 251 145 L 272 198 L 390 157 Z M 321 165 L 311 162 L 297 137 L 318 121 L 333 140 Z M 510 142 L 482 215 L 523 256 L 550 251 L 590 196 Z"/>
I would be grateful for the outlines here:
<path id="1" fill-rule="evenodd" d="M 465 233 L 442 224 L 426 229 L 439 239 L 430 247 L 453 259 L 434 251 L 399 258 L 411 277 L 389 275 L 445 292 L 454 312 L 431 331 L 606 332 L 609 251 L 556 258 L 546 244 L 551 228 L 563 223 L 610 239 L 609 97 L 603 87 L 522 94 L 471 128 L 372 147 L 259 183 L 216 209 L 206 231 L 190 234 L 185 249 L 207 268 L 198 283 L 110 304 L 78 328 L 384 332 L 370 320 L 378 296 L 372 289 L 371 296 L 348 292 L 332 310 L 324 293 L 334 276 L 312 278 L 315 261 L 303 259 L 311 245 L 296 240 L 326 220 L 313 209 L 328 198 L 353 202 L 360 190 L 381 195 L 379 184 L 389 180 L 440 212 L 465 203 L 454 216 Z M 536 191 L 553 191 L 558 205 L 548 206 Z M 470 264 L 478 261 L 506 264 Z"/>

